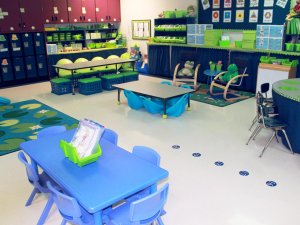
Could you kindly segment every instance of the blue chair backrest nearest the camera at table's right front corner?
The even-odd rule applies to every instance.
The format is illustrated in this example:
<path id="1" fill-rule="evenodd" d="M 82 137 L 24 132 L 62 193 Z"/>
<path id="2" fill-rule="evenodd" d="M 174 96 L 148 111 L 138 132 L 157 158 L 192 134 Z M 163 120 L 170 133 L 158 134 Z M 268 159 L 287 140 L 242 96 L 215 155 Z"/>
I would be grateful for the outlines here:
<path id="1" fill-rule="evenodd" d="M 151 224 L 160 220 L 163 207 L 167 201 L 169 184 L 165 184 L 160 190 L 130 205 L 129 219 L 137 224 Z M 160 224 L 160 223 L 159 223 Z"/>

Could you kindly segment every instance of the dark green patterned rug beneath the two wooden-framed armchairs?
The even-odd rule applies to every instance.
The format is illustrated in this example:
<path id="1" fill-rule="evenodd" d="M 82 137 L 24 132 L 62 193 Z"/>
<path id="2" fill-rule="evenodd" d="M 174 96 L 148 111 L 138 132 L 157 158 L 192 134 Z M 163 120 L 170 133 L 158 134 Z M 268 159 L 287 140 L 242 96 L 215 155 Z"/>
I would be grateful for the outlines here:
<path id="1" fill-rule="evenodd" d="M 235 100 L 235 101 L 225 101 L 223 98 L 223 95 L 210 95 L 209 93 L 209 85 L 207 84 L 201 84 L 200 88 L 191 96 L 191 100 L 194 101 L 198 101 L 198 102 L 203 102 L 203 103 L 207 103 L 210 105 L 215 105 L 215 106 L 219 106 L 219 107 L 224 107 L 224 106 L 228 106 L 240 101 L 243 101 L 245 99 L 248 98 L 252 98 L 255 96 L 255 94 L 251 93 L 251 92 L 246 92 L 246 91 L 236 91 L 238 94 L 244 96 L 245 98 L 243 99 L 239 99 L 239 100 Z M 222 91 L 220 90 L 216 90 L 215 92 L 218 91 Z M 234 97 L 233 95 L 228 95 L 229 97 Z"/>

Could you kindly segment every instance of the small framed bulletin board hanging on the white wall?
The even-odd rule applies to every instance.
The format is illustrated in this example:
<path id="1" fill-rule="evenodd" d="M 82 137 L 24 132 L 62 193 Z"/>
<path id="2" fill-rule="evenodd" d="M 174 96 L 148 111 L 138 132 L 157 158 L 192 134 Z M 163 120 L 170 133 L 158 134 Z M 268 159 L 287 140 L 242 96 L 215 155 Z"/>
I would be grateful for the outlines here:
<path id="1" fill-rule="evenodd" d="M 151 37 L 151 20 L 132 20 L 132 39 L 147 40 Z"/>

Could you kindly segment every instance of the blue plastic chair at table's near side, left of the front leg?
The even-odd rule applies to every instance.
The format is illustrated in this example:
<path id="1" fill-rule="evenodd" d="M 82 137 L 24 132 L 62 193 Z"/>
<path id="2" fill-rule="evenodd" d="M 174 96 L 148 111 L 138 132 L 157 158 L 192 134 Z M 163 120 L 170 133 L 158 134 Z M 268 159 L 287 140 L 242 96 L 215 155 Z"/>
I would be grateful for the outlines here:
<path id="1" fill-rule="evenodd" d="M 93 215 L 83 209 L 75 198 L 58 191 L 50 182 L 47 182 L 47 186 L 51 191 L 60 215 L 63 217 L 61 225 L 65 225 L 67 222 L 80 225 L 92 225 L 95 223 Z"/>

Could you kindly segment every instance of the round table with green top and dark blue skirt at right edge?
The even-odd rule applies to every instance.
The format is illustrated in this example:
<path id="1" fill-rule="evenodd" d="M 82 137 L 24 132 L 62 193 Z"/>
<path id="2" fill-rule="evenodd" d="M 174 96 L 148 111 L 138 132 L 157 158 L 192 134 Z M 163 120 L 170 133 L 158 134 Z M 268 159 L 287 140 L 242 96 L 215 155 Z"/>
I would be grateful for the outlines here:
<path id="1" fill-rule="evenodd" d="M 286 128 L 294 152 L 300 153 L 300 78 L 280 80 L 272 86 L 274 103 Z M 285 139 L 283 143 L 287 146 Z"/>

